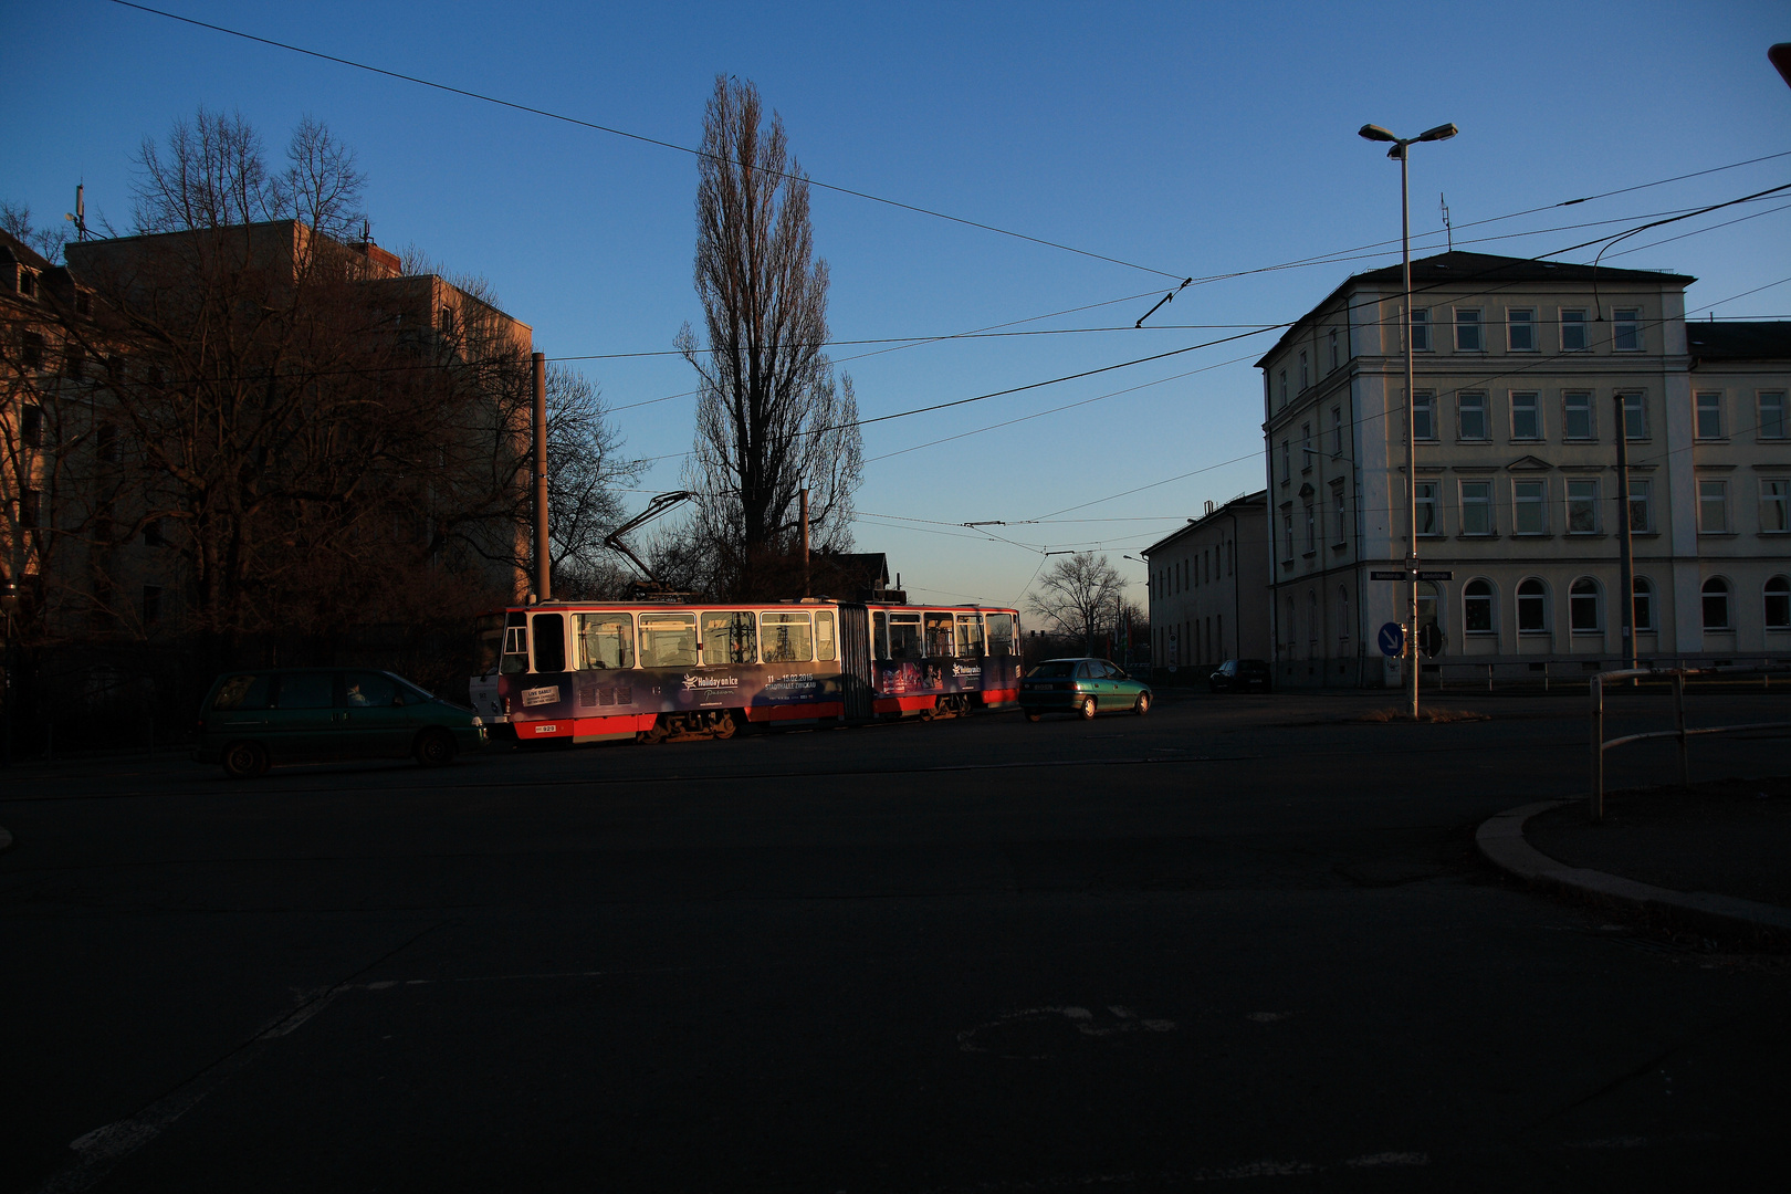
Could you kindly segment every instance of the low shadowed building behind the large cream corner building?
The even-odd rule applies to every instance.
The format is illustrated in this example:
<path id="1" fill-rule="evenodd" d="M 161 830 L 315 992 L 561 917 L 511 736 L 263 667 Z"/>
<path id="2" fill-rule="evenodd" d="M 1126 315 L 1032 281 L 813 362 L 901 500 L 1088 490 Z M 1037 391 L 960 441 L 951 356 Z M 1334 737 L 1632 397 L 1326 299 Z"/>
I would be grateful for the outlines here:
<path id="1" fill-rule="evenodd" d="M 1266 492 L 1243 494 L 1144 548 L 1152 669 L 1270 657 L 1266 510 Z"/>

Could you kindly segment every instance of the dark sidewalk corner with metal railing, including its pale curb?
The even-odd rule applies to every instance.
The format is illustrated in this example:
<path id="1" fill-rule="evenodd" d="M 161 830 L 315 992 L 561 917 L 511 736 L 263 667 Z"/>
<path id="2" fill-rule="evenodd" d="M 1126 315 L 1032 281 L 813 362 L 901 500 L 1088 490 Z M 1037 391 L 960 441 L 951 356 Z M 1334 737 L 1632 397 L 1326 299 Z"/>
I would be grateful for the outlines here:
<path id="1" fill-rule="evenodd" d="M 1546 800 L 1494 816 L 1479 849 L 1538 886 L 1791 940 L 1791 779 Z"/>

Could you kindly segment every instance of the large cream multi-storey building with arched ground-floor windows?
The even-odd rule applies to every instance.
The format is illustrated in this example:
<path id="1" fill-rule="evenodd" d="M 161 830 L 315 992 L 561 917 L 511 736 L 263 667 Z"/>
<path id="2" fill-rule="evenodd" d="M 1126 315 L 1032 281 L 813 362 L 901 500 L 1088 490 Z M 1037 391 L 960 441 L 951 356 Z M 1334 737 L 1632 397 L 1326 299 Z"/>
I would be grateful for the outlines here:
<path id="1" fill-rule="evenodd" d="M 1284 686 L 1397 686 L 1411 337 L 1418 625 L 1444 677 L 1791 655 L 1791 335 L 1687 324 L 1680 274 L 1474 252 L 1350 277 L 1263 371 L 1272 641 Z M 1617 473 L 1617 435 L 1628 455 Z"/>

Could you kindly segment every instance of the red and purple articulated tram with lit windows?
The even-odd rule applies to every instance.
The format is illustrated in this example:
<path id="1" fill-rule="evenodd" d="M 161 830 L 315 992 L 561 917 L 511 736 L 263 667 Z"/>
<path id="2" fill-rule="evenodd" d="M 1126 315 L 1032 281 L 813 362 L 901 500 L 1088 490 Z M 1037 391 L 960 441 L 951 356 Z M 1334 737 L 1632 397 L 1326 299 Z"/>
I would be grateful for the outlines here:
<path id="1" fill-rule="evenodd" d="M 544 601 L 480 619 L 469 695 L 518 741 L 731 738 L 1008 705 L 1019 662 L 1012 609 Z"/>

